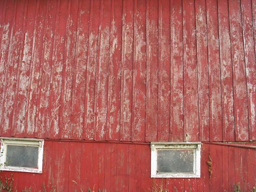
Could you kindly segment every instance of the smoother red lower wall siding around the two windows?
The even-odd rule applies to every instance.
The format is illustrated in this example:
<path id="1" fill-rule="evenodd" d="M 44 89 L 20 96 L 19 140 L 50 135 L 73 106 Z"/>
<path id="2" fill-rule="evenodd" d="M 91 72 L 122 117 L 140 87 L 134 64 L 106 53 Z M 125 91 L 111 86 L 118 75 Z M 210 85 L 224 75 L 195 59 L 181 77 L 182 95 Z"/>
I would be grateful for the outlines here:
<path id="1" fill-rule="evenodd" d="M 255 145 L 255 143 L 253 143 Z M 245 145 L 246 147 L 247 145 Z M 234 191 L 240 182 L 243 191 L 256 183 L 256 150 L 230 145 L 203 143 L 201 178 L 151 179 L 151 149 L 147 143 L 45 141 L 42 174 L 13 173 L 13 185 L 18 191 L 31 188 L 47 191 L 104 192 L 152 191 L 152 185 L 163 184 L 169 192 Z M 212 174 L 208 169 L 211 158 Z M 0 175 L 10 177 L 10 172 Z M 176 188 L 176 189 L 175 189 Z M 81 190 L 82 189 L 82 190 Z"/>

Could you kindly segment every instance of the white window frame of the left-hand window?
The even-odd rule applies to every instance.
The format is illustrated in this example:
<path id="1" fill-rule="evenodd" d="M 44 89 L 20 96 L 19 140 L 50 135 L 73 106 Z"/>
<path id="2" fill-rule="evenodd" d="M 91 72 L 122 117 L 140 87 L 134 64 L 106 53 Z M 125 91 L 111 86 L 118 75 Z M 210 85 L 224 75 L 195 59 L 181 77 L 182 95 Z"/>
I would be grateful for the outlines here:
<path id="1" fill-rule="evenodd" d="M 42 173 L 42 157 L 44 155 L 43 139 L 8 138 L 8 137 L 0 137 L 0 139 L 1 139 L 0 170 L 10 170 L 13 172 Z M 8 162 L 6 162 L 7 150 L 5 150 L 7 148 L 7 145 L 38 147 L 37 168 L 8 166 Z"/>

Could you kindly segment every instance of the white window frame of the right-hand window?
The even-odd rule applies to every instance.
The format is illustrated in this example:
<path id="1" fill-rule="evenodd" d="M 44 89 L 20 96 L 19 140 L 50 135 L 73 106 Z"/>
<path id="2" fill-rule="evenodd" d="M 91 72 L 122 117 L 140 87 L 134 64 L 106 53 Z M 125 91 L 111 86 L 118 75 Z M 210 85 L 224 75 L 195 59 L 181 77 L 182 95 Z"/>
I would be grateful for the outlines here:
<path id="1" fill-rule="evenodd" d="M 175 149 L 195 148 L 194 173 L 158 173 L 157 172 L 157 151 Z M 151 177 L 152 178 L 200 178 L 200 154 L 201 142 L 153 142 L 151 143 Z"/>

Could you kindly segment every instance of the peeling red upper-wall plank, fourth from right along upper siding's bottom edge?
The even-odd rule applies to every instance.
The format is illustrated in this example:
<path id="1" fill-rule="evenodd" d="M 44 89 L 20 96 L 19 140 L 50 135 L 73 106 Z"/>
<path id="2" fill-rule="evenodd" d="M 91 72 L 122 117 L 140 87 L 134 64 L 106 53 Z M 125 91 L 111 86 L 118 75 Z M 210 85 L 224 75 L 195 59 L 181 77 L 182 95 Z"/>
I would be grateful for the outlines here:
<path id="1" fill-rule="evenodd" d="M 217 6 L 217 1 L 206 1 L 211 141 L 222 141 L 221 72 Z"/>

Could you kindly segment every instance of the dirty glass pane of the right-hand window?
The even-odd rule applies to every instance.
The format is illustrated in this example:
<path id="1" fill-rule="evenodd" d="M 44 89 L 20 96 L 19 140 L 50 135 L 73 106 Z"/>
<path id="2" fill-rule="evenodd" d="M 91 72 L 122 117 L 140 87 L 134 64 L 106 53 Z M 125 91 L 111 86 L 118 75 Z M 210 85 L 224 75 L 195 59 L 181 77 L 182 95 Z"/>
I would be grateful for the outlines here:
<path id="1" fill-rule="evenodd" d="M 158 150 L 158 173 L 193 173 L 194 149 Z"/>

